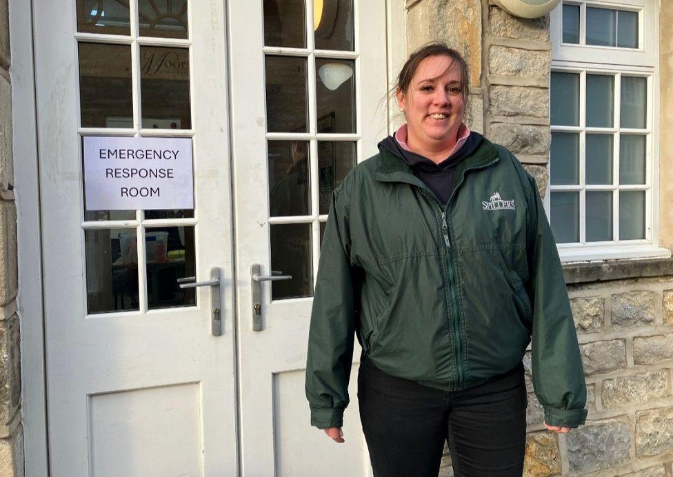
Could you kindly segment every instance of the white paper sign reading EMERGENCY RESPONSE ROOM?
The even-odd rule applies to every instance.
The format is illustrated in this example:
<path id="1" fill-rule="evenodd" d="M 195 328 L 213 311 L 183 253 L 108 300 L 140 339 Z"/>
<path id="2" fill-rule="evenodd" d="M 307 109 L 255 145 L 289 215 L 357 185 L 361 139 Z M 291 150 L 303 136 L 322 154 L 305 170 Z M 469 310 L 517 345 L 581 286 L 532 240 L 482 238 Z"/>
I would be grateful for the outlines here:
<path id="1" fill-rule="evenodd" d="M 87 210 L 193 209 L 192 139 L 84 137 Z"/>

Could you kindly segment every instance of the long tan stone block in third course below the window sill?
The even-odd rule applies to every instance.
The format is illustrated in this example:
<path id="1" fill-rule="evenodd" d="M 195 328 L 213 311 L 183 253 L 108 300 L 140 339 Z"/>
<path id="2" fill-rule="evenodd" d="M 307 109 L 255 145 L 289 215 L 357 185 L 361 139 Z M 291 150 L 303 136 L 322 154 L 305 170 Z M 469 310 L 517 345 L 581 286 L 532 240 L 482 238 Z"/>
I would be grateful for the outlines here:
<path id="1" fill-rule="evenodd" d="M 670 394 L 668 369 L 603 381 L 603 407 L 607 409 L 616 409 L 632 403 L 645 403 L 651 399 L 665 398 Z"/>

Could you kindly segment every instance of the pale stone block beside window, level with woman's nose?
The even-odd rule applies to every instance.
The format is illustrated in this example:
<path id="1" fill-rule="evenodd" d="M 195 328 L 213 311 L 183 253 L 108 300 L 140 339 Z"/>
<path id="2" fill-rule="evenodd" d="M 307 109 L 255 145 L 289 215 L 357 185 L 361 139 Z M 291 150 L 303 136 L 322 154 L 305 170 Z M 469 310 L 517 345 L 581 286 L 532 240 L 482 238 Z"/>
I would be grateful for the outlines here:
<path id="1" fill-rule="evenodd" d="M 549 89 L 532 86 L 492 85 L 491 114 L 549 118 Z"/>

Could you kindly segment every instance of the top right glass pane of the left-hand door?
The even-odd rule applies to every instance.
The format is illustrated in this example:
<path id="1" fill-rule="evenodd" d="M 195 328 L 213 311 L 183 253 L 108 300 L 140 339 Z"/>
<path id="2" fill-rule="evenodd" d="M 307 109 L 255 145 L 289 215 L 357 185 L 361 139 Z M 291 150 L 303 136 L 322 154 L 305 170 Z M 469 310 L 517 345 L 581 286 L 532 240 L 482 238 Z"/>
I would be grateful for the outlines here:
<path id="1" fill-rule="evenodd" d="M 187 0 L 137 0 L 141 37 L 188 37 Z"/>

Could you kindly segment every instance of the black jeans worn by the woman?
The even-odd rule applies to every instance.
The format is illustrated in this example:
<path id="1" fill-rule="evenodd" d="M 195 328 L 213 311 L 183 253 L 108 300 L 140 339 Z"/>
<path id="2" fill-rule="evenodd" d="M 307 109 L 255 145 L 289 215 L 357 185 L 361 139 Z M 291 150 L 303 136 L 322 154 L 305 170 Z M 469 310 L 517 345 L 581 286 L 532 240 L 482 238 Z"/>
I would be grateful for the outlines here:
<path id="1" fill-rule="evenodd" d="M 523 365 L 481 385 L 445 392 L 390 376 L 363 356 L 358 400 L 376 477 L 436 477 L 445 440 L 456 477 L 523 473 Z"/>

